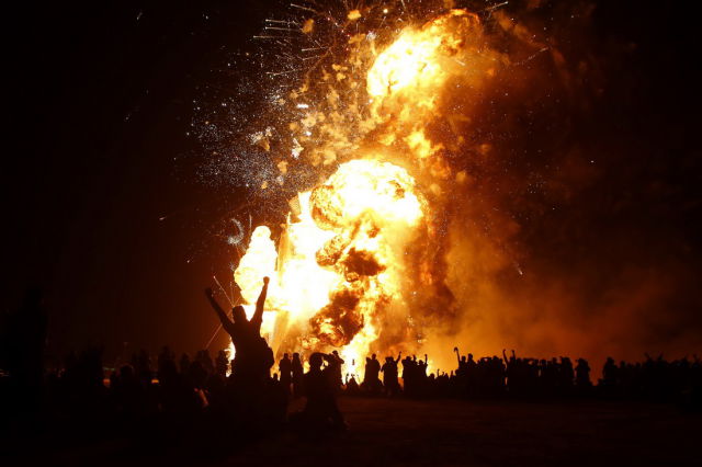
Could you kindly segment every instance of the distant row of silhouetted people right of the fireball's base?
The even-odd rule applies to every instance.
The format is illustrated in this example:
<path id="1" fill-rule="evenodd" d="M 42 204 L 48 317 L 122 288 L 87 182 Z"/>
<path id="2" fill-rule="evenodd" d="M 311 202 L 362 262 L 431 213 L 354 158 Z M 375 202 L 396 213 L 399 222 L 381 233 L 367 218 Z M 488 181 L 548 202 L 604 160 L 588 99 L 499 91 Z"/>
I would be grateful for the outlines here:
<path id="1" fill-rule="evenodd" d="M 456 353 L 455 369 L 428 374 L 428 356 L 397 358 L 387 356 L 381 366 L 375 354 L 366 358 L 363 380 L 347 376 L 349 395 L 462 398 L 556 399 L 599 397 L 609 399 L 678 402 L 686 407 L 700 405 L 702 397 L 702 361 L 667 361 L 646 355 L 643 363 L 608 358 L 602 377 L 592 384 L 587 360 L 575 363 L 567 356 L 539 360 L 518 356 L 514 351 L 502 356 L 475 360 L 473 354 Z M 401 358 L 401 360 L 400 360 Z M 401 364 L 401 384 L 398 366 Z M 381 380 L 381 373 L 383 373 Z"/>

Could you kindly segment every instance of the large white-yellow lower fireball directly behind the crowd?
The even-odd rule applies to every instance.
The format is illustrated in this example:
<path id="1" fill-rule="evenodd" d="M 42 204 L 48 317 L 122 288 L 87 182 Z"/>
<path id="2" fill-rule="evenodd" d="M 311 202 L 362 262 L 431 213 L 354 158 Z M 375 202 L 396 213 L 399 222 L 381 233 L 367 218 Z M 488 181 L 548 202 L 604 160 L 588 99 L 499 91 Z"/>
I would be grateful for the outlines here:
<path id="1" fill-rule="evenodd" d="M 341 164 L 297 202 L 279 251 L 258 227 L 235 280 L 253 303 L 260 278 L 271 277 L 263 333 L 274 349 L 343 348 L 354 373 L 378 323 L 403 307 L 405 246 L 426 202 L 405 169 L 376 160 Z"/>

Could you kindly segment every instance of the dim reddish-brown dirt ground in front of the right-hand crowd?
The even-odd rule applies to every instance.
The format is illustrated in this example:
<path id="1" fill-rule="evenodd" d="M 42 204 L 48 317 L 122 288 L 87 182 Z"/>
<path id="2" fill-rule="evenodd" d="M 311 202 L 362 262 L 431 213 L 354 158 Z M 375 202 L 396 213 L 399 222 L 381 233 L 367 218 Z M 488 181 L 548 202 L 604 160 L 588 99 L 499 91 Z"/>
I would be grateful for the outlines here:
<path id="1" fill-rule="evenodd" d="M 220 465 L 702 465 L 701 415 L 633 402 L 342 399 L 349 431 L 290 434 Z"/>

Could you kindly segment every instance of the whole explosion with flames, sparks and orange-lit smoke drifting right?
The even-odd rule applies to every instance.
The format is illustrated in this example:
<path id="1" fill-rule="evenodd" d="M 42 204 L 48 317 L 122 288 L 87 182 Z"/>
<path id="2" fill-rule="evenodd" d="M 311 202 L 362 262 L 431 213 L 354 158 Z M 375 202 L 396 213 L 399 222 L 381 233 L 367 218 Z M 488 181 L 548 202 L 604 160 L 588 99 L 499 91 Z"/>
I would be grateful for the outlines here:
<path id="1" fill-rule="evenodd" d="M 348 3 L 267 20 L 248 58 L 260 77 L 216 106 L 225 118 L 201 118 L 206 175 L 246 186 L 247 209 L 267 218 L 237 221 L 230 244 L 245 301 L 271 276 L 273 349 L 339 348 L 352 372 L 367 352 L 400 350 L 449 368 L 461 342 L 602 357 L 598 329 L 612 353 L 638 357 L 626 352 L 656 332 L 631 323 L 663 316 L 652 310 L 676 285 L 611 254 L 634 254 L 629 238 L 596 244 L 577 215 L 612 156 L 590 138 L 605 140 L 589 122 L 609 112 L 607 57 L 578 29 L 593 7 Z M 257 111 L 236 110 L 251 90 Z"/>

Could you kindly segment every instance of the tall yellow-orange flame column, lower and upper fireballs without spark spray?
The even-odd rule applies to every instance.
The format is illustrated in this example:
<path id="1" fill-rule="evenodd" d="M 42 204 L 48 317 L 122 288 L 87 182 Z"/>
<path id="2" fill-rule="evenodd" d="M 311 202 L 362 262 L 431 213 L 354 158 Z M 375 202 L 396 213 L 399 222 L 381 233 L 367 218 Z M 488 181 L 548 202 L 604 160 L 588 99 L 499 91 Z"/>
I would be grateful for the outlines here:
<path id="1" fill-rule="evenodd" d="M 314 163 L 347 161 L 291 202 L 278 246 L 268 227 L 256 228 L 235 271 L 248 304 L 261 277 L 271 277 L 262 332 L 274 352 L 340 349 L 346 372 L 358 374 L 370 352 L 421 348 L 411 303 L 418 289 L 443 280 L 433 277 L 430 255 L 418 260 L 409 250 L 421 238 L 431 243 L 432 209 L 448 194 L 442 186 L 462 176 L 427 127 L 446 87 L 468 79 L 479 88 L 492 75 L 499 57 L 480 48 L 479 27 L 474 14 L 451 10 L 404 27 L 380 52 L 374 36 L 351 37 L 347 62 L 332 65 L 336 75 L 324 72 L 324 105 L 290 124 L 294 158 L 305 150 Z M 355 96 L 346 106 L 340 89 Z M 307 83 L 291 99 L 306 92 Z"/>

